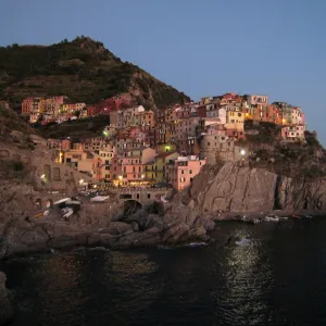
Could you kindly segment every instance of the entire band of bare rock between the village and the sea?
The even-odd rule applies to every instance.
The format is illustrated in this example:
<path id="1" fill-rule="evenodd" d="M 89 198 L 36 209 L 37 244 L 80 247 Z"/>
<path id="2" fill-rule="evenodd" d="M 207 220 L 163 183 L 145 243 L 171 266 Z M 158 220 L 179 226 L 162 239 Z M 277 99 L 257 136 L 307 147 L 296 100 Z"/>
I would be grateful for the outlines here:
<path id="1" fill-rule="evenodd" d="M 74 183 L 73 183 L 74 185 Z M 240 213 L 326 212 L 323 179 L 291 179 L 265 168 L 227 163 L 203 167 L 192 185 L 172 202 L 125 216 L 117 202 L 85 201 L 79 212 L 64 221 L 60 210 L 35 218 L 45 209 L 48 191 L 20 179 L 0 185 L 0 256 L 74 246 L 130 248 L 209 240 L 215 222 Z M 67 189 L 73 195 L 74 187 Z M 40 199 L 41 206 L 36 206 Z M 234 214 L 234 215 L 231 215 Z"/>

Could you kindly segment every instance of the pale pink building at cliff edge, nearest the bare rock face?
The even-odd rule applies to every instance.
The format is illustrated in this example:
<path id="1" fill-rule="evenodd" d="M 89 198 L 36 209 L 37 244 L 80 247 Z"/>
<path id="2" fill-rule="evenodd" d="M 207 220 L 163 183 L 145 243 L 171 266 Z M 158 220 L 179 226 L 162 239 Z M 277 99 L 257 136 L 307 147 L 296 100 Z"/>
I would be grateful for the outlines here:
<path id="1" fill-rule="evenodd" d="M 195 155 L 179 156 L 166 165 L 166 179 L 175 189 L 183 190 L 190 186 L 203 165 L 205 160 L 199 160 Z"/>

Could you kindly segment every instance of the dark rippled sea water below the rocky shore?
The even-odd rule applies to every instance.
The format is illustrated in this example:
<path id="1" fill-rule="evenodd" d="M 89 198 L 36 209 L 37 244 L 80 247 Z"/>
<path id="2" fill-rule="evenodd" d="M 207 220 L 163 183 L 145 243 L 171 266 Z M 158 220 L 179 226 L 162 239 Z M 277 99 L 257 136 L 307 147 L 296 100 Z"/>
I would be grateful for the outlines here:
<path id="1" fill-rule="evenodd" d="M 247 246 L 223 243 L 229 235 Z M 14 326 L 326 325 L 326 218 L 221 224 L 216 244 L 5 264 Z"/>

